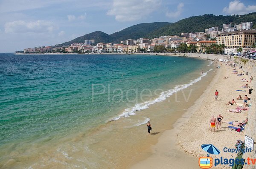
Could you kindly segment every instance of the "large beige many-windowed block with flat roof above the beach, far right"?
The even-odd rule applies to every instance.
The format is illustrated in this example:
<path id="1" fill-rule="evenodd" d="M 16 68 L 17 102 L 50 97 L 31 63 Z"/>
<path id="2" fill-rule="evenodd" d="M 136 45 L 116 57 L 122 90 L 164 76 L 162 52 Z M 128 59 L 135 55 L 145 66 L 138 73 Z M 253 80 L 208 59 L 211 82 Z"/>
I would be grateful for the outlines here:
<path id="1" fill-rule="evenodd" d="M 224 44 L 226 54 L 237 53 L 237 49 L 242 48 L 242 51 L 247 51 L 256 43 L 255 30 L 241 30 L 234 32 L 226 32 L 218 34 L 216 44 Z M 255 49 L 255 48 L 254 48 Z"/>

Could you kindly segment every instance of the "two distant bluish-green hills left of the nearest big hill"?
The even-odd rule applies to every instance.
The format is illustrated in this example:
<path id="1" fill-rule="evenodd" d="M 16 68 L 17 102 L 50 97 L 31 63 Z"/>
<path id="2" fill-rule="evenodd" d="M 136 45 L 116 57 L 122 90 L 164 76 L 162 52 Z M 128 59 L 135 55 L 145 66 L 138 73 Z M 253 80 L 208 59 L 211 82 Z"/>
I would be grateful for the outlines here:
<path id="1" fill-rule="evenodd" d="M 113 34 L 106 34 L 101 31 L 85 34 L 84 36 L 77 37 L 76 39 L 62 43 L 61 46 L 69 46 L 71 43 L 84 43 L 84 40 L 95 39 L 97 43 L 104 42 L 120 42 L 126 39 L 139 39 L 146 34 L 162 28 L 163 26 L 170 25 L 169 22 L 154 22 L 154 23 L 140 23 L 134 26 L 130 26 L 122 31 L 115 32 Z"/>

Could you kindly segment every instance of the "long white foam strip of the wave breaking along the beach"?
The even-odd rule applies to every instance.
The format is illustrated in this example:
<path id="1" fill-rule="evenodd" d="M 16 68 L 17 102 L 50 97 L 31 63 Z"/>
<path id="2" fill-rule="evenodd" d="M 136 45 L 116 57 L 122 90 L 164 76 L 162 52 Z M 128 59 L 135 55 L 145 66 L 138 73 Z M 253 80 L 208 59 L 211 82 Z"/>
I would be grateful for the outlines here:
<path id="1" fill-rule="evenodd" d="M 160 94 L 159 97 L 155 98 L 154 100 L 150 100 L 150 101 L 145 101 L 143 103 L 137 103 L 135 104 L 134 107 L 130 107 L 128 109 L 125 109 L 124 112 L 122 112 L 120 115 L 116 116 L 116 117 L 113 117 L 111 118 L 110 120 L 108 120 L 108 122 L 111 122 L 111 121 L 114 121 L 114 120 L 118 120 L 122 117 L 129 117 L 131 115 L 136 115 L 135 112 L 137 111 L 140 111 L 140 110 L 143 110 L 143 109 L 147 109 L 149 106 L 151 106 L 152 104 L 154 103 L 158 103 L 158 102 L 162 102 L 163 100 L 166 100 L 167 97 L 170 97 L 171 95 L 173 95 L 174 93 L 176 92 L 179 92 L 180 90 L 182 89 L 185 89 L 189 86 L 191 86 L 192 84 L 198 82 L 199 80 L 202 79 L 202 77 L 206 76 L 208 72 L 210 72 L 212 69 L 210 69 L 209 71 L 207 72 L 204 72 L 200 77 L 198 77 L 197 79 L 195 80 L 191 80 L 190 83 L 187 83 L 187 84 L 183 84 L 183 85 L 177 85 L 175 86 L 175 88 L 173 89 L 170 89 L 170 90 L 167 90 L 165 92 L 162 92 Z"/>

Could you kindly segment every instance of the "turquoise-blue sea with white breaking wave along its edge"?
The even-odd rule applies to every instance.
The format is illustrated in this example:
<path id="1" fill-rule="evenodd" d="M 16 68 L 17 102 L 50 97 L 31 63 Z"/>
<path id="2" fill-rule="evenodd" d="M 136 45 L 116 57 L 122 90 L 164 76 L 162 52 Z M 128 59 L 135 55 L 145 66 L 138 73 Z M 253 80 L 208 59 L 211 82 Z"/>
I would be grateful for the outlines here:
<path id="1" fill-rule="evenodd" d="M 209 64 L 154 55 L 1 53 L 0 168 L 22 147 L 136 115 L 201 80 Z"/>

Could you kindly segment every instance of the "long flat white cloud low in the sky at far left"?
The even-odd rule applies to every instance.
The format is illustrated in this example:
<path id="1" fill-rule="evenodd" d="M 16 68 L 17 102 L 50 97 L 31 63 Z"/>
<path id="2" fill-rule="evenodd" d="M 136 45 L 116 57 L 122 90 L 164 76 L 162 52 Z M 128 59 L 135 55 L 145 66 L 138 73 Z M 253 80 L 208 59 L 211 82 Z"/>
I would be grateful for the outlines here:
<path id="1" fill-rule="evenodd" d="M 54 23 L 44 20 L 25 22 L 23 20 L 8 22 L 4 25 L 6 33 L 45 33 L 58 29 Z"/>

